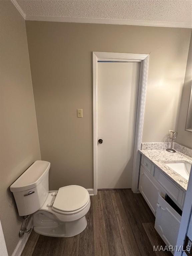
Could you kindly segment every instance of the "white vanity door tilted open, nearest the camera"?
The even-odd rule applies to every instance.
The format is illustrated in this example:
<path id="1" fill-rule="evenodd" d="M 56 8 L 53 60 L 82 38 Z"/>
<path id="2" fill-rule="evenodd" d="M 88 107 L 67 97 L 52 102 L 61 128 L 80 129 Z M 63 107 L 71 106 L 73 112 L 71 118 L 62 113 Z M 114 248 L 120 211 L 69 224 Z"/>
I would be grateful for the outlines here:
<path id="1" fill-rule="evenodd" d="M 167 246 L 176 246 L 180 222 L 181 216 L 159 196 L 155 229 Z"/>

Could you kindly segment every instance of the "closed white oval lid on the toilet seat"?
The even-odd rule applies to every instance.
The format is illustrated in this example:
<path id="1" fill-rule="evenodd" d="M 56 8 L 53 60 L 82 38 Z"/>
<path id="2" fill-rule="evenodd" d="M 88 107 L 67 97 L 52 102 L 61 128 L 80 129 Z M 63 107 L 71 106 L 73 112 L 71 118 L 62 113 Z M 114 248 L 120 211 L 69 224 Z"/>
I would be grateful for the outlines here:
<path id="1" fill-rule="evenodd" d="M 89 200 L 88 191 L 77 185 L 62 187 L 53 203 L 52 209 L 72 212 L 83 207 Z"/>

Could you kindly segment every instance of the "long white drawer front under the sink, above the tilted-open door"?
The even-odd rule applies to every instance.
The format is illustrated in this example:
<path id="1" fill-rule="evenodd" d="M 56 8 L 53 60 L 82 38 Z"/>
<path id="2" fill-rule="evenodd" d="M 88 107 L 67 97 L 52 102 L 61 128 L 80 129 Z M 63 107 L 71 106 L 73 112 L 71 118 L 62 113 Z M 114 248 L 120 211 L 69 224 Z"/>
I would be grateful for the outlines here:
<path id="1" fill-rule="evenodd" d="M 170 195 L 172 200 L 182 208 L 185 199 L 185 193 L 182 189 L 173 184 L 165 175 L 163 175 L 157 167 L 154 172 L 155 179 L 162 185 L 166 192 Z"/>

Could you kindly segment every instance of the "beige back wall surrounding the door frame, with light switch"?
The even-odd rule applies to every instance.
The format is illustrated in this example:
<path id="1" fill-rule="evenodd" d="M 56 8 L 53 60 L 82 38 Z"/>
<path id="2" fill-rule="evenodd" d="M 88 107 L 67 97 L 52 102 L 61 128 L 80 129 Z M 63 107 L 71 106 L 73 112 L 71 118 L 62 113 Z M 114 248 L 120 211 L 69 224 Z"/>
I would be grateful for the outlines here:
<path id="1" fill-rule="evenodd" d="M 176 128 L 190 29 L 38 21 L 27 21 L 26 28 L 51 190 L 93 187 L 93 51 L 150 54 L 143 142 L 164 141 Z"/>

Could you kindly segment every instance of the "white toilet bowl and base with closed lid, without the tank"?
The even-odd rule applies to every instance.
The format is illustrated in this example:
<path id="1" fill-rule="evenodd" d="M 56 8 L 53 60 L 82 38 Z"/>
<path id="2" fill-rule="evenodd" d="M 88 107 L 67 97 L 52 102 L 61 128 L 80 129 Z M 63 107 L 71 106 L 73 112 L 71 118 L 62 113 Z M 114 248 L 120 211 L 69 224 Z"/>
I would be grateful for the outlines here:
<path id="1" fill-rule="evenodd" d="M 33 229 L 46 236 L 75 236 L 86 228 L 89 208 L 86 189 L 76 185 L 62 187 L 58 193 L 50 192 L 43 206 L 33 214 Z"/>

